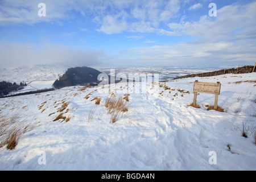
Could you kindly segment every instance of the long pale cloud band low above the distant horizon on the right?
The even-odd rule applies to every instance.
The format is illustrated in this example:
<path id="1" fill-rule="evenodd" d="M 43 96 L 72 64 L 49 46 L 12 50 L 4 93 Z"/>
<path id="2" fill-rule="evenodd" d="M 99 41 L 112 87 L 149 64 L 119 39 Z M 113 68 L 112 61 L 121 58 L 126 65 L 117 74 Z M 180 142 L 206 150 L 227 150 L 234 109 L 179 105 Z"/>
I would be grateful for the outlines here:
<path id="1" fill-rule="evenodd" d="M 119 52 L 115 60 L 125 60 L 127 64 L 143 66 L 157 65 L 220 65 L 247 64 L 256 60 L 255 45 L 248 48 L 246 43 L 192 43 L 154 45 L 130 48 Z M 123 63 L 119 61 L 119 63 Z M 253 62 L 254 63 L 254 62 Z M 118 64 L 118 63 L 117 63 Z M 120 64 L 122 65 L 122 64 Z"/>

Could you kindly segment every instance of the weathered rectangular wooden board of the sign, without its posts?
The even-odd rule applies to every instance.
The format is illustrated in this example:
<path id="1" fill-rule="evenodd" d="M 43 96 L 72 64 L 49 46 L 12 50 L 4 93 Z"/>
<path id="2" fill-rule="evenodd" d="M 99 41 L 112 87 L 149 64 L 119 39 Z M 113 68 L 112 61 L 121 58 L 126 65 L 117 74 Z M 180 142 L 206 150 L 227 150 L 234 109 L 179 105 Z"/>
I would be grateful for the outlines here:
<path id="1" fill-rule="evenodd" d="M 220 94 L 221 84 L 220 82 L 217 83 L 209 83 L 209 82 L 194 82 L 194 92 L 201 92 L 201 93 L 209 93 L 209 94 Z"/>

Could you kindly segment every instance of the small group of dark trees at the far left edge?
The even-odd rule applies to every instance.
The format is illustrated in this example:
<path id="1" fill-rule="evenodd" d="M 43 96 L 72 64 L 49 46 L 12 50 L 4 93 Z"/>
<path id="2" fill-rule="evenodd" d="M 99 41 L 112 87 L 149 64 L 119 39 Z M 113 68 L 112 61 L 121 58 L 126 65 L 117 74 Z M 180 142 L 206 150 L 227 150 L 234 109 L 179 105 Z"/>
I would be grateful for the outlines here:
<path id="1" fill-rule="evenodd" d="M 16 90 L 21 90 L 24 87 L 27 86 L 26 83 L 20 82 L 20 84 L 16 84 L 16 82 L 11 83 L 11 82 L 6 82 L 6 81 L 1 81 L 0 82 L 0 96 L 5 96 L 9 94 L 10 92 L 16 91 Z"/>

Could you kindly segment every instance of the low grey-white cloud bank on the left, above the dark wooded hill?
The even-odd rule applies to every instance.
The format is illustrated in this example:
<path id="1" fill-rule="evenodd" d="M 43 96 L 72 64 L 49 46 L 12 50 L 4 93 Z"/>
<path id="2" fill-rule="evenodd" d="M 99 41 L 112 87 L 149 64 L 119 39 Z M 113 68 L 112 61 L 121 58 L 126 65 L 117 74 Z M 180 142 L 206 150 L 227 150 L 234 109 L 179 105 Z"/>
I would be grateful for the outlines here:
<path id="1" fill-rule="evenodd" d="M 41 47 L 32 44 L 0 42 L 1 67 L 35 64 L 67 64 L 92 66 L 104 64 L 108 55 L 102 50 L 76 49 L 61 44 L 44 43 Z"/>

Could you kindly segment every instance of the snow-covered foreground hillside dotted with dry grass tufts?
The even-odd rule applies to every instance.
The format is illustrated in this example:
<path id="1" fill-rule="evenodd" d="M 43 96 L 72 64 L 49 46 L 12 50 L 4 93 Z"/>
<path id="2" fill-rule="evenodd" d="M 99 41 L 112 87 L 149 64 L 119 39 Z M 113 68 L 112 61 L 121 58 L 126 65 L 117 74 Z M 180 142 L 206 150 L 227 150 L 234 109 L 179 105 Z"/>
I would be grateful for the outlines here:
<path id="1" fill-rule="evenodd" d="M 200 109 L 188 106 L 195 80 L 221 82 L 218 105 L 226 112 L 207 110 L 205 105 L 214 104 L 212 94 L 197 96 Z M 111 93 L 76 86 L 0 98 L 0 115 L 19 113 L 37 125 L 14 150 L 0 148 L 0 170 L 256 170 L 255 73 L 158 85 L 159 92 L 134 93 L 133 85 L 120 83 Z M 104 101 L 112 93 L 123 96 L 124 90 L 129 90 L 131 107 L 110 123 Z M 100 105 L 92 101 L 95 97 L 101 98 Z M 61 112 L 68 122 L 53 121 Z M 248 138 L 242 137 L 243 123 Z"/>

